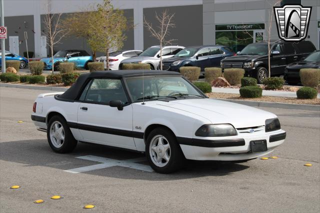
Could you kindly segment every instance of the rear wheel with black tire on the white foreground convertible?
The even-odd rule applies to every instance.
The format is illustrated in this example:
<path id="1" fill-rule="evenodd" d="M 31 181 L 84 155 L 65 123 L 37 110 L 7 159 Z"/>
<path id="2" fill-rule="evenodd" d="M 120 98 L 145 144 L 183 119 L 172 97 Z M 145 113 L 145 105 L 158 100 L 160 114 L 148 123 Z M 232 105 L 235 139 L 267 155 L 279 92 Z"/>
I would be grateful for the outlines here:
<path id="1" fill-rule="evenodd" d="M 49 120 L 46 136 L 52 150 L 58 153 L 72 151 L 77 143 L 64 118 L 58 115 Z"/>

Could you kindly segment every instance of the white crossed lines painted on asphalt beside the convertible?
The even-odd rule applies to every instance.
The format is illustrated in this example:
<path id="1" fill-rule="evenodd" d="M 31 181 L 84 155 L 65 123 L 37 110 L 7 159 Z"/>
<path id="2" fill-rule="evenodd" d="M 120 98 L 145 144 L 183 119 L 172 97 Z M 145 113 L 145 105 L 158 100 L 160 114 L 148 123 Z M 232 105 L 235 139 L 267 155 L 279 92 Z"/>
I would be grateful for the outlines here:
<path id="1" fill-rule="evenodd" d="M 126 159 L 126 160 L 117 160 L 117 159 L 99 157 L 99 156 L 94 156 L 94 155 L 85 155 L 85 156 L 79 156 L 76 158 L 85 159 L 85 160 L 92 160 L 92 161 L 101 162 L 101 163 L 78 167 L 78 168 L 72 168 L 72 169 L 68 169 L 68 170 L 64 170 L 64 171 L 70 172 L 70 173 L 81 173 L 81 172 L 85 172 L 85 171 L 92 171 L 92 170 L 101 169 L 101 168 L 108 168 L 108 167 L 112 167 L 112 166 L 122 166 L 122 167 L 133 168 L 133 169 L 142 170 L 142 171 L 149 171 L 149 172 L 153 171 L 150 166 L 137 163 L 137 162 L 144 161 L 145 157 L 132 158 L 132 159 Z"/>

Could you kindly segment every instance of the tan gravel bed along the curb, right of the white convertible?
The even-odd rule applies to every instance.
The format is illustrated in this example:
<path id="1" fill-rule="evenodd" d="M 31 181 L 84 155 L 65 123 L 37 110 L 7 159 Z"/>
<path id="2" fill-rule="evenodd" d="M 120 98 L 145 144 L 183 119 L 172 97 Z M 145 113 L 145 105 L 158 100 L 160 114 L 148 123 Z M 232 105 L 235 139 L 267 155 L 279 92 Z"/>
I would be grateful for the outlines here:
<path id="1" fill-rule="evenodd" d="M 206 93 L 206 95 L 211 98 L 320 105 L 319 98 L 297 99 L 294 97 L 276 97 L 276 96 L 262 96 L 262 97 L 258 97 L 258 98 L 243 98 L 243 97 L 240 97 L 239 94 L 221 93 L 221 92 L 210 92 L 210 93 Z"/>

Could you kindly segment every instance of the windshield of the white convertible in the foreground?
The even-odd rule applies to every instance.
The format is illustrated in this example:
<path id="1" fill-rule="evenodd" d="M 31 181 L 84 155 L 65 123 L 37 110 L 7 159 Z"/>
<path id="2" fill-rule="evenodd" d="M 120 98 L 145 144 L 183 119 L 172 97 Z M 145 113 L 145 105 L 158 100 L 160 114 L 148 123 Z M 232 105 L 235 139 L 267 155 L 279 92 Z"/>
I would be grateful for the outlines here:
<path id="1" fill-rule="evenodd" d="M 142 77 L 127 78 L 126 83 L 134 102 L 177 97 L 204 97 L 189 82 L 180 76 L 144 76 L 144 92 Z"/>

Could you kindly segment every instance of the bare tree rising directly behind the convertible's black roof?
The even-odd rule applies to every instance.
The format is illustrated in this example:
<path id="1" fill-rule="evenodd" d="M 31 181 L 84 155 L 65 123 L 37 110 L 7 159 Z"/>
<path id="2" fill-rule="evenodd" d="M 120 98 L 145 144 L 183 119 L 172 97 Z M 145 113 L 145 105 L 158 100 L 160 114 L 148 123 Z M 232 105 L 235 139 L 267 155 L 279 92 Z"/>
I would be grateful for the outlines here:
<path id="1" fill-rule="evenodd" d="M 162 46 L 171 43 L 175 39 L 166 40 L 166 36 L 170 34 L 170 28 L 175 27 L 175 24 L 172 22 L 174 13 L 170 14 L 167 10 L 162 11 L 160 15 L 155 12 L 155 18 L 158 22 L 158 26 L 152 27 L 152 24 L 144 19 L 144 26 L 147 27 L 151 36 L 156 38 L 160 43 L 160 69 L 162 70 Z M 155 67 L 154 67 L 155 68 Z"/>

